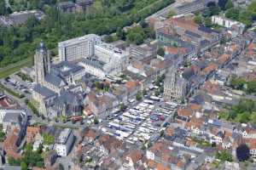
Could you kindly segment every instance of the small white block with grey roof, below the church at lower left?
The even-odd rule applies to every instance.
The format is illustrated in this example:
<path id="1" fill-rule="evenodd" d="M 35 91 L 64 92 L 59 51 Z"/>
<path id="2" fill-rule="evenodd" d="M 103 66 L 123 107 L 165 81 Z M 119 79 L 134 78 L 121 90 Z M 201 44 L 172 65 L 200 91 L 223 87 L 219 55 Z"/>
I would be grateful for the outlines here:
<path id="1" fill-rule="evenodd" d="M 55 144 L 55 150 L 58 156 L 67 156 L 74 142 L 73 131 L 70 128 L 64 128 Z"/>

